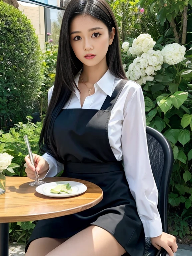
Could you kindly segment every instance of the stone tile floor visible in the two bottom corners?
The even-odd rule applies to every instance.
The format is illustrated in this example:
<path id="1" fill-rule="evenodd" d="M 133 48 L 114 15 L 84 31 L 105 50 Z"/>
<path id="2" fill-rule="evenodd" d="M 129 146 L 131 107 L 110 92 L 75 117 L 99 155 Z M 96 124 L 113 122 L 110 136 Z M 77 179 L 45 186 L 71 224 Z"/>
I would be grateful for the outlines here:
<path id="1" fill-rule="evenodd" d="M 22 255 L 25 255 L 25 246 L 23 244 L 9 245 L 9 256 L 22 256 Z M 175 256 L 192 256 L 192 248 L 191 250 L 178 249 L 177 252 L 175 253 Z"/>

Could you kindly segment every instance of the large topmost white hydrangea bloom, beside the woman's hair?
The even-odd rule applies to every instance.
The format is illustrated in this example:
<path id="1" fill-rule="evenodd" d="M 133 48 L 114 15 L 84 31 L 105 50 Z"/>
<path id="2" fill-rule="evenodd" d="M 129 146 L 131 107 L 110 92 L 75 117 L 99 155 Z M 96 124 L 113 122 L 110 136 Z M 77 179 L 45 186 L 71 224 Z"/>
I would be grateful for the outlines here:
<path id="1" fill-rule="evenodd" d="M 132 55 L 141 56 L 142 53 L 148 52 L 155 45 L 155 41 L 149 34 L 140 34 L 137 38 L 133 40 L 132 47 L 129 51 Z"/>

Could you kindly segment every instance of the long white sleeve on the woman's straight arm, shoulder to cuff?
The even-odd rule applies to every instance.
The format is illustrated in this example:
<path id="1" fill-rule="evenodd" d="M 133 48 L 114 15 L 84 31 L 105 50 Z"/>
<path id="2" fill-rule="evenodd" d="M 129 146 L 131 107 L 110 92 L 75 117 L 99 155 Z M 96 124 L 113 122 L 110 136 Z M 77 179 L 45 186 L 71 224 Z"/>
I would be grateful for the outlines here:
<path id="1" fill-rule="evenodd" d="M 121 140 L 124 170 L 145 236 L 159 236 L 162 234 L 162 223 L 157 209 L 158 190 L 148 154 L 145 103 L 141 87 L 135 90 L 124 109 Z"/>

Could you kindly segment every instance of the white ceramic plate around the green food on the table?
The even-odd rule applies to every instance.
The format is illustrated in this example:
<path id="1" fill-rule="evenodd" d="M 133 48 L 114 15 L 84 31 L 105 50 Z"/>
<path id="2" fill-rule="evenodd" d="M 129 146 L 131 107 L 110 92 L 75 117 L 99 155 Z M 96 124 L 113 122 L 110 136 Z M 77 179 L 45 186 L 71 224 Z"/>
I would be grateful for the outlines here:
<path id="1" fill-rule="evenodd" d="M 52 188 L 55 188 L 58 184 L 67 184 L 69 183 L 72 188 L 72 193 L 67 194 L 64 192 L 61 192 L 62 194 L 53 194 L 50 192 Z M 41 184 L 35 189 L 38 193 L 45 195 L 45 196 L 50 196 L 50 197 L 70 197 L 70 196 L 77 196 L 79 194 L 84 193 L 87 190 L 87 187 L 80 182 L 76 181 L 55 181 L 55 182 L 49 182 L 45 184 Z"/>

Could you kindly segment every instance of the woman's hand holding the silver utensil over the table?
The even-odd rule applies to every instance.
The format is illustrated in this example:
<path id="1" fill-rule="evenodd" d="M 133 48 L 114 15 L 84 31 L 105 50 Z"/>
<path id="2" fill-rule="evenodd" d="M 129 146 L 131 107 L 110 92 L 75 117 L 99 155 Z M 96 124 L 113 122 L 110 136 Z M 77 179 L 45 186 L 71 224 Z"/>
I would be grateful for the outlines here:
<path id="1" fill-rule="evenodd" d="M 42 156 L 37 154 L 33 154 L 33 159 L 35 167 L 32 165 L 29 159 L 29 155 L 25 157 L 26 163 L 24 164 L 24 166 L 26 167 L 25 172 L 27 173 L 27 177 L 29 177 L 32 180 L 35 179 L 35 168 L 37 170 L 38 175 L 44 177 L 49 170 L 49 164 L 45 161 L 45 159 Z"/>

